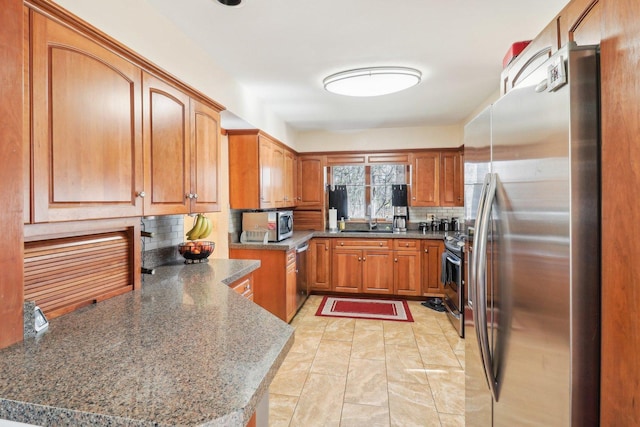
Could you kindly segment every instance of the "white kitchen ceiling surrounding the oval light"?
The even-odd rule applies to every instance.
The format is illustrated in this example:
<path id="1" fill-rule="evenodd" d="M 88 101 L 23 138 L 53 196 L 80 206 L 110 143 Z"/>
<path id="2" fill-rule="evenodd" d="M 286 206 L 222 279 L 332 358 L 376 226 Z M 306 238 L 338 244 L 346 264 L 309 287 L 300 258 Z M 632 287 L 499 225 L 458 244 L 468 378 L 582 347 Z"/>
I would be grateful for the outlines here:
<path id="1" fill-rule="evenodd" d="M 511 43 L 535 37 L 567 0 L 148 2 L 304 131 L 459 123 L 498 90 Z M 422 83 L 369 98 L 323 89 L 332 73 L 390 65 L 419 69 Z"/>

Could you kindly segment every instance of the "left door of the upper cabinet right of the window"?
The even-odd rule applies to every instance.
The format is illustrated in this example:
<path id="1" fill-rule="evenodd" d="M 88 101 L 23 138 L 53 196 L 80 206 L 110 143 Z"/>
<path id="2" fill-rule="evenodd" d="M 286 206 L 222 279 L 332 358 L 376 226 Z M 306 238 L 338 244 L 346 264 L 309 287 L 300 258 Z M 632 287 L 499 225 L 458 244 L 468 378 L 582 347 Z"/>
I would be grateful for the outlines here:
<path id="1" fill-rule="evenodd" d="M 418 153 L 414 156 L 411 206 L 438 206 L 439 169 L 439 152 Z"/>

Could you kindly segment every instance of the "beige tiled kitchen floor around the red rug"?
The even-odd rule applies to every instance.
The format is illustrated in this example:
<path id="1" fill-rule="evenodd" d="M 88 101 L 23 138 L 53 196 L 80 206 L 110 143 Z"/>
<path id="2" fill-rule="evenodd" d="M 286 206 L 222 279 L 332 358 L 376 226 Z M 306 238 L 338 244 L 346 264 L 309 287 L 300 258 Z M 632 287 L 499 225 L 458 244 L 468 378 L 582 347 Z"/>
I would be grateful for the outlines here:
<path id="1" fill-rule="evenodd" d="M 317 317 L 311 296 L 269 389 L 269 426 L 464 426 L 464 342 L 444 313 L 414 323 Z"/>

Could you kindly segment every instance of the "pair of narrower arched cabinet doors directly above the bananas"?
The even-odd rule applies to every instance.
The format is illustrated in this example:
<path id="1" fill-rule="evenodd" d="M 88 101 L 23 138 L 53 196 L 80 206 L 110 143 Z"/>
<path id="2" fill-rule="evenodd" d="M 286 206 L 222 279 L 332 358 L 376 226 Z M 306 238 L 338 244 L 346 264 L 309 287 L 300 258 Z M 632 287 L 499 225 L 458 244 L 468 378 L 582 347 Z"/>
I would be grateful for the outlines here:
<path id="1" fill-rule="evenodd" d="M 219 114 L 143 73 L 144 214 L 219 210 Z"/>

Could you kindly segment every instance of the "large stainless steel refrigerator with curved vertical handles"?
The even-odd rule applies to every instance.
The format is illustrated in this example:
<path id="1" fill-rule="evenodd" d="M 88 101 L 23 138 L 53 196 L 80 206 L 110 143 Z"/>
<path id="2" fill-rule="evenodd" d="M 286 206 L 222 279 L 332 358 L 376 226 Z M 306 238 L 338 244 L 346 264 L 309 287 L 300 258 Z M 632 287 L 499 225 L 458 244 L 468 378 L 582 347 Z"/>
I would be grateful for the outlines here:
<path id="1" fill-rule="evenodd" d="M 543 60 L 465 127 L 467 426 L 598 425 L 598 49 Z"/>

